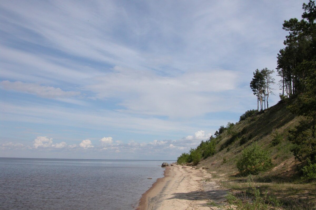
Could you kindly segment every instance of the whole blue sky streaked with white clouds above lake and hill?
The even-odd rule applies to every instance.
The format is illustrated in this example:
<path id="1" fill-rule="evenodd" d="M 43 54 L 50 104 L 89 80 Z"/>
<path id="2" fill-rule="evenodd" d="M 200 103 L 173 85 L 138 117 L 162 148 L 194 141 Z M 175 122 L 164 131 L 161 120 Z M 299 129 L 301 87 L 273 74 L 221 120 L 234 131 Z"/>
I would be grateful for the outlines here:
<path id="1" fill-rule="evenodd" d="M 303 3 L 0 1 L 0 157 L 175 160 L 257 108 Z"/>

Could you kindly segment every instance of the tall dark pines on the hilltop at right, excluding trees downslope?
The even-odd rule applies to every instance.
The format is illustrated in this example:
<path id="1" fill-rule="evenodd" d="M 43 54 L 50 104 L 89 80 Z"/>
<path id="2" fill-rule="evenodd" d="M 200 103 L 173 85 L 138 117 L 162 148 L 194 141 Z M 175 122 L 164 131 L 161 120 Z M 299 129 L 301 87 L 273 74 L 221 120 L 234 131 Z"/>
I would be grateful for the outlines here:
<path id="1" fill-rule="evenodd" d="M 277 56 L 277 72 L 281 76 L 282 95 L 291 97 L 306 91 L 306 79 L 316 61 L 316 7 L 314 1 L 303 4 L 304 13 L 299 21 L 296 18 L 285 20 L 283 29 L 289 32 L 284 41 L 285 48 Z M 315 80 L 315 77 L 313 78 Z"/>

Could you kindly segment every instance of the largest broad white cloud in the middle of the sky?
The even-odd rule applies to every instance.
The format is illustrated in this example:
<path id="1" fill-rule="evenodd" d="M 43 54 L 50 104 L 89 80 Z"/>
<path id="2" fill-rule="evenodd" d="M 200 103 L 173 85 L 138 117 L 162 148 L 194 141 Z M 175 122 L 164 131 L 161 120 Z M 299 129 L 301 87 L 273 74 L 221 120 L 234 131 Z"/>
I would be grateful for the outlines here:
<path id="1" fill-rule="evenodd" d="M 210 69 L 171 77 L 117 66 L 114 72 L 94 78 L 85 89 L 99 99 L 121 101 L 121 112 L 184 118 L 233 106 L 215 96 L 235 90 L 238 81 L 238 74 L 228 70 Z"/>

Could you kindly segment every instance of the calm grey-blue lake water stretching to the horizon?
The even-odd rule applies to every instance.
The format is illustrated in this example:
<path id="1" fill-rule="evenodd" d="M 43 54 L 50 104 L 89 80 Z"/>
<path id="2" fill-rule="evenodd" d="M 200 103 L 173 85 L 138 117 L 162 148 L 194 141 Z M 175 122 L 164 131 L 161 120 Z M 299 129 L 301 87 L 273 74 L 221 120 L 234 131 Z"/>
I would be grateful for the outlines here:
<path id="1" fill-rule="evenodd" d="M 0 158 L 0 209 L 135 209 L 162 162 Z"/>

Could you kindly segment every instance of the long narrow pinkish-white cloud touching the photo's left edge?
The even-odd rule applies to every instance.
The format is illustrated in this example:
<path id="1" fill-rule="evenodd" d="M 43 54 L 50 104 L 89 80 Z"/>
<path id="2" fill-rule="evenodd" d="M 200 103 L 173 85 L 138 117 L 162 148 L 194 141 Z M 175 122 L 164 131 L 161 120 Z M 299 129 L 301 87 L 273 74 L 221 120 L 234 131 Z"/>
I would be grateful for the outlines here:
<path id="1" fill-rule="evenodd" d="M 15 90 L 18 92 L 34 94 L 44 98 L 67 98 L 80 95 L 78 91 L 64 91 L 60 88 L 41 86 L 35 83 L 24 83 L 20 81 L 10 82 L 1 81 L 0 85 L 6 90 Z"/>

